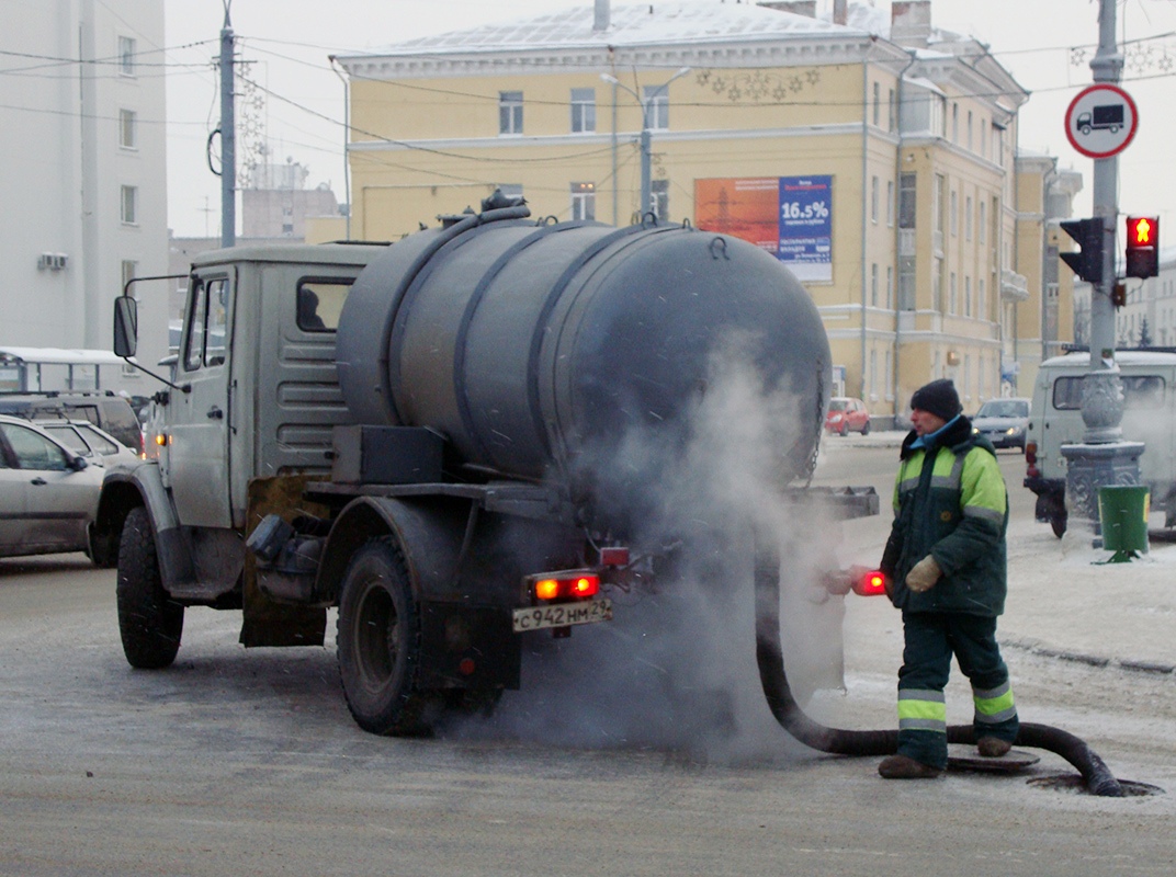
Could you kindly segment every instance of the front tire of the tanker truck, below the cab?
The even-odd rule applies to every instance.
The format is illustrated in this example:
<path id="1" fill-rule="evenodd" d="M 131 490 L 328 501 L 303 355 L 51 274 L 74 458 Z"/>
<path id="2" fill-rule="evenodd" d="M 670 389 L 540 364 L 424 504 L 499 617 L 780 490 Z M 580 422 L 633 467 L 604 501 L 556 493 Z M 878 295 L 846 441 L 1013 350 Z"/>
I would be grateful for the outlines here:
<path id="1" fill-rule="evenodd" d="M 127 662 L 140 670 L 169 667 L 180 650 L 183 607 L 167 596 L 159 575 L 147 509 L 131 509 L 119 541 L 119 634 Z"/>

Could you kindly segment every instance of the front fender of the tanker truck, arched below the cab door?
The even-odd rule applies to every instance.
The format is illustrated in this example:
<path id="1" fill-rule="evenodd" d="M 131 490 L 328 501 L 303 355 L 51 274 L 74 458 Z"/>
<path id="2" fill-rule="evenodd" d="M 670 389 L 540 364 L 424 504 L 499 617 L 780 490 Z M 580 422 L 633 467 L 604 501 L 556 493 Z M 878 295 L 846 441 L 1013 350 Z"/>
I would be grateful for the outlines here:
<path id="1" fill-rule="evenodd" d="M 155 534 L 155 551 L 163 587 L 193 580 L 194 563 L 180 522 L 172 507 L 172 500 L 163 487 L 159 464 L 147 461 L 133 469 L 114 470 L 102 481 L 102 493 L 98 501 L 98 514 L 91 537 L 95 562 L 114 565 L 118 558 L 119 540 L 127 514 L 136 506 L 147 508 L 152 530 Z M 106 563 L 103 563 L 106 561 Z"/>

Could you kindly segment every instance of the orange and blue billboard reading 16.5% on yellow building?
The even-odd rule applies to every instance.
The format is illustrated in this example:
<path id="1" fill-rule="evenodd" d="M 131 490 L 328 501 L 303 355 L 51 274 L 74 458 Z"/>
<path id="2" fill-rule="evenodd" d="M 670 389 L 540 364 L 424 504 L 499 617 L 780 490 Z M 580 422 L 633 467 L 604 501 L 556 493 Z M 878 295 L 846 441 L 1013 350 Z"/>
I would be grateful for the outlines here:
<path id="1" fill-rule="evenodd" d="M 766 249 L 802 281 L 833 280 L 833 176 L 694 181 L 694 225 Z"/>

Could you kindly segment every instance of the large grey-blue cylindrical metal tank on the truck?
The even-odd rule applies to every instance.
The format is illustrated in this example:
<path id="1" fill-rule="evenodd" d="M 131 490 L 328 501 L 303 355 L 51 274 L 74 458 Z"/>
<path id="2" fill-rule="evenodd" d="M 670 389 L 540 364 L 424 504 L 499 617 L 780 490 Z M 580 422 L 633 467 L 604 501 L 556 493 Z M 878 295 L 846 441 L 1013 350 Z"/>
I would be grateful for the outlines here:
<path id="1" fill-rule="evenodd" d="M 783 477 L 808 471 L 829 346 L 776 259 L 689 227 L 526 216 L 448 217 L 365 269 L 336 347 L 356 420 L 440 430 L 469 473 L 592 482 L 634 430 L 679 446 L 719 346 L 740 336 L 762 387 L 790 394 Z"/>

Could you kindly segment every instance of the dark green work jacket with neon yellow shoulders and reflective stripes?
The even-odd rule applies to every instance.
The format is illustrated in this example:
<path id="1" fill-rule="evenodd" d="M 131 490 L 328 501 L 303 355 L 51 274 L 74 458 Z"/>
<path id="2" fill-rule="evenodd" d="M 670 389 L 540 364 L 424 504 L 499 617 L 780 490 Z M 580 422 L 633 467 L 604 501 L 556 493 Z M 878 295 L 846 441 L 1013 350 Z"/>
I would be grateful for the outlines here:
<path id="1" fill-rule="evenodd" d="M 991 443 L 960 417 L 930 449 L 902 443 L 894 487 L 894 524 L 882 557 L 891 602 L 909 612 L 1004 611 L 1009 497 Z M 931 555 L 942 577 L 922 594 L 907 574 Z"/>

